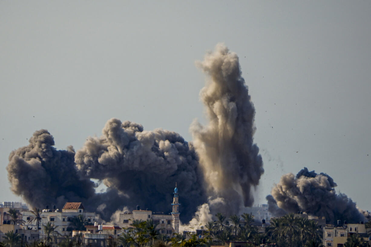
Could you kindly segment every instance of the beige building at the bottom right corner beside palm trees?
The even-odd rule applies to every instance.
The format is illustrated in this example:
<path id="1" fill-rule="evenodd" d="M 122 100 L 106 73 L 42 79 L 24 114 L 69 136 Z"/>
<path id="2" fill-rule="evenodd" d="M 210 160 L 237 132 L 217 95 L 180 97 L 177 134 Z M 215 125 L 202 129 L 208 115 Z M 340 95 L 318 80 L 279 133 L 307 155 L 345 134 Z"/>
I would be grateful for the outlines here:
<path id="1" fill-rule="evenodd" d="M 368 241 L 368 234 L 363 222 L 359 224 L 344 224 L 344 225 L 326 225 L 324 227 L 323 245 L 342 247 L 347 238 L 352 234 L 359 234 L 365 241 Z"/>

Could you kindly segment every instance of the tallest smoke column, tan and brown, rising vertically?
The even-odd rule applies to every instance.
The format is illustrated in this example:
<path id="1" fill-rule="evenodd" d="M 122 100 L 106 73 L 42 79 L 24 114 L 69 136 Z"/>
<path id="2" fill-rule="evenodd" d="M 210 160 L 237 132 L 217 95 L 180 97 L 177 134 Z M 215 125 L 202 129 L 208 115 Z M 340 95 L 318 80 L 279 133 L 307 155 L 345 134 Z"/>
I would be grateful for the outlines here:
<path id="1" fill-rule="evenodd" d="M 241 77 L 239 59 L 222 44 L 197 65 L 209 76 L 200 92 L 209 124 L 191 126 L 211 198 L 224 198 L 230 214 L 251 206 L 251 190 L 263 174 L 262 157 L 253 143 L 255 108 Z"/>

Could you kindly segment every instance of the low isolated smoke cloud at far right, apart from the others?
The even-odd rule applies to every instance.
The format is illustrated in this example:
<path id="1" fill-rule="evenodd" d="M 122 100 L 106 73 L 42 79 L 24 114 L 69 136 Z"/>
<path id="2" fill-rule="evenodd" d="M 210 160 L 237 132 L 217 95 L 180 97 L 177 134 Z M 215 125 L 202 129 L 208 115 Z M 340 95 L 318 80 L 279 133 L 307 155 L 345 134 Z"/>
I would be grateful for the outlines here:
<path id="1" fill-rule="evenodd" d="M 336 194 L 334 180 L 325 173 L 317 174 L 304 168 L 293 175 L 283 175 L 272 189 L 272 196 L 267 196 L 269 209 L 273 214 L 282 214 L 278 208 L 288 213 L 303 211 L 306 214 L 326 217 L 327 223 L 346 220 L 357 223 L 365 219 L 355 202 L 347 195 Z M 278 208 L 277 208 L 278 206 Z M 277 215 L 280 216 L 280 215 Z"/>

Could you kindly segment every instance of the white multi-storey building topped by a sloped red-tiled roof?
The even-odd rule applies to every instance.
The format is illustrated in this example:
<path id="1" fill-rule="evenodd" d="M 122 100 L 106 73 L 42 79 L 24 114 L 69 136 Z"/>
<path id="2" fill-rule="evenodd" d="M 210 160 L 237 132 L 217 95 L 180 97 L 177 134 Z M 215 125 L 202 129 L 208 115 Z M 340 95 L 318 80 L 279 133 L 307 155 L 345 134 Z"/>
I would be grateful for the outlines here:
<path id="1" fill-rule="evenodd" d="M 23 220 L 26 222 L 25 227 L 28 230 L 37 230 L 36 221 L 30 221 L 34 214 L 31 211 L 24 211 Z M 72 219 L 78 215 L 83 215 L 87 222 L 92 224 L 95 222 L 95 213 L 86 212 L 81 202 L 66 202 L 62 211 L 56 209 L 55 206 L 50 210 L 47 206 L 42 210 L 41 222 L 39 223 L 40 237 L 45 237 L 43 233 L 42 225 L 46 225 L 48 222 L 56 226 L 56 231 L 61 236 L 72 235 L 73 225 Z"/>

